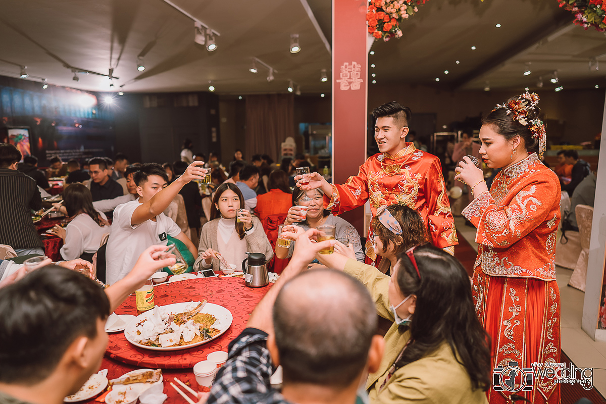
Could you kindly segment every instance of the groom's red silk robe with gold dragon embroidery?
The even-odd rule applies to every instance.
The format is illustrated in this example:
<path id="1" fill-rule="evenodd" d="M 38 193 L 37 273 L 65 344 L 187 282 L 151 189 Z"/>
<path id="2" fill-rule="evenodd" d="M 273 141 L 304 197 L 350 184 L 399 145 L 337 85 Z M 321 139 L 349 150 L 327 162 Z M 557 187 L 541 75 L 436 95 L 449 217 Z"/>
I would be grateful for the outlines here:
<path id="1" fill-rule="evenodd" d="M 411 142 L 395 156 L 379 153 L 369 157 L 357 176 L 349 177 L 344 185 L 333 185 L 333 194 L 324 196 L 324 207 L 341 214 L 368 199 L 373 216 L 382 205 L 407 205 L 423 217 L 433 245 L 458 244 L 440 161 Z M 375 260 L 370 245 L 366 243 L 366 254 Z"/>

